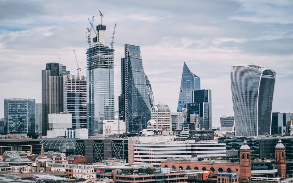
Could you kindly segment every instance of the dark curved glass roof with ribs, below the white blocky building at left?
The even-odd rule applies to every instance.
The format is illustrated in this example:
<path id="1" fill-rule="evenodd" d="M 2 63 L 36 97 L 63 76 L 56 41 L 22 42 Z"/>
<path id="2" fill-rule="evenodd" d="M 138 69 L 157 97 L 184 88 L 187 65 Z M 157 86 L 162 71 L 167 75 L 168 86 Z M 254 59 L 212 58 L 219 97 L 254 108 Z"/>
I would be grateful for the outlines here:
<path id="1" fill-rule="evenodd" d="M 39 139 L 43 144 L 44 151 L 64 152 L 66 155 L 74 154 L 74 142 L 72 138 L 51 138 L 51 139 Z"/>

